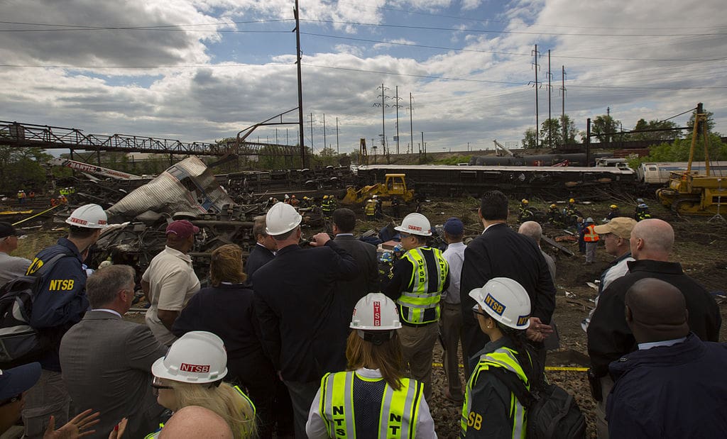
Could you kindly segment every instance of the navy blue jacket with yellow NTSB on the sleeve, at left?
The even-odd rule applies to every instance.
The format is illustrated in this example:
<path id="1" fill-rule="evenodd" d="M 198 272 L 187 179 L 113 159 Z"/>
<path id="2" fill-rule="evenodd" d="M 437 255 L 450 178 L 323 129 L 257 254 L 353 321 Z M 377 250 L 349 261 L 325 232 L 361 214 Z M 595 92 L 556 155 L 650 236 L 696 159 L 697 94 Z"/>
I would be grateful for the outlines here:
<path id="1" fill-rule="evenodd" d="M 57 372 L 60 372 L 60 339 L 71 326 L 81 321 L 89 307 L 86 297 L 86 270 L 81 267 L 83 257 L 74 243 L 60 238 L 55 246 L 36 254 L 33 263 L 28 267 L 28 274 L 31 274 L 42 263 L 61 253 L 68 254 L 68 257 L 58 259 L 53 269 L 44 275 L 44 282 L 33 302 L 30 321 L 33 328 L 40 329 L 51 341 L 49 352 L 40 359 L 41 367 Z"/>

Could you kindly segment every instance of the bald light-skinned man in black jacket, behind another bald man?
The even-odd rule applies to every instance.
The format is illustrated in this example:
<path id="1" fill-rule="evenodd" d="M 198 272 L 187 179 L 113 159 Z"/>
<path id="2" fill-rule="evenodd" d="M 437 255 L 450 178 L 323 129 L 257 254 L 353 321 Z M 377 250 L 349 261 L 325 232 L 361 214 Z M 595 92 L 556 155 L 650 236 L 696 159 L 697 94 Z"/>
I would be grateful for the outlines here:
<path id="1" fill-rule="evenodd" d="M 629 273 L 613 281 L 598 299 L 587 330 L 590 379 L 595 386 L 593 397 L 598 401 L 598 438 L 608 438 L 606 395 L 613 385 L 608 363 L 636 348 L 624 318 L 624 297 L 634 283 L 657 278 L 677 287 L 686 299 L 689 329 L 704 341 L 718 341 L 722 318 L 717 303 L 703 286 L 684 274 L 678 262 L 669 262 L 673 244 L 674 230 L 669 223 L 655 219 L 638 222 L 631 230 L 631 256 L 635 260 L 628 262 Z"/>

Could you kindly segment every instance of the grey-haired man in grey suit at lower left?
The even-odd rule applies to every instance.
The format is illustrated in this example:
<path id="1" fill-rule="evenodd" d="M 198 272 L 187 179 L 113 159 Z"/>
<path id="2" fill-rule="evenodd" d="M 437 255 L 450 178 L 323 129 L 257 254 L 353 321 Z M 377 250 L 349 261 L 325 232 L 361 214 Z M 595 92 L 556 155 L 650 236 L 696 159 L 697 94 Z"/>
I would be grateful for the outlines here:
<path id="1" fill-rule="evenodd" d="M 151 365 L 166 354 L 166 347 L 148 326 L 121 318 L 134 299 L 132 267 L 101 268 L 89 276 L 86 290 L 91 310 L 60 343 L 63 382 L 77 411 L 101 413 L 89 438 L 108 438 L 125 417 L 124 436 L 142 438 L 156 430 L 164 411 L 152 395 Z"/>

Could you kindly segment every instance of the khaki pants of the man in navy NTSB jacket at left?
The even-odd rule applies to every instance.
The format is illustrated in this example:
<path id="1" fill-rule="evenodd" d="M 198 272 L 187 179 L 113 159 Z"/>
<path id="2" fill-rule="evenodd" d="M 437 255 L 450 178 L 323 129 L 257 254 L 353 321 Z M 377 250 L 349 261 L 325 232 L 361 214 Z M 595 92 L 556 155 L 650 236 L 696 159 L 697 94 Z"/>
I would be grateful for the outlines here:
<path id="1" fill-rule="evenodd" d="M 40 379 L 28 392 L 25 392 L 23 400 L 25 438 L 42 438 L 51 415 L 55 417 L 56 430 L 69 420 L 71 396 L 68 395 L 60 372 L 41 369 Z"/>

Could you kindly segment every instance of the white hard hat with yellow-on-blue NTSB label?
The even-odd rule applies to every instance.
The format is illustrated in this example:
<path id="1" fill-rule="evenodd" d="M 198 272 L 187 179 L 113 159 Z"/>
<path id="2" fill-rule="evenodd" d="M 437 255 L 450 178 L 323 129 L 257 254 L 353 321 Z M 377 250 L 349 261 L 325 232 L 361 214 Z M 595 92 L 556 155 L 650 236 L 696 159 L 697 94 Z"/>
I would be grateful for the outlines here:
<path id="1" fill-rule="evenodd" d="M 470 291 L 470 297 L 495 321 L 508 328 L 530 326 L 530 297 L 518 281 L 492 278 L 482 288 Z"/>

